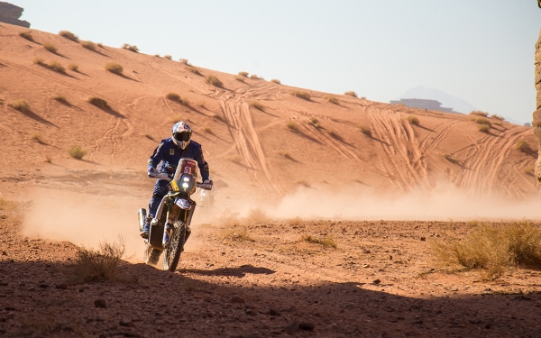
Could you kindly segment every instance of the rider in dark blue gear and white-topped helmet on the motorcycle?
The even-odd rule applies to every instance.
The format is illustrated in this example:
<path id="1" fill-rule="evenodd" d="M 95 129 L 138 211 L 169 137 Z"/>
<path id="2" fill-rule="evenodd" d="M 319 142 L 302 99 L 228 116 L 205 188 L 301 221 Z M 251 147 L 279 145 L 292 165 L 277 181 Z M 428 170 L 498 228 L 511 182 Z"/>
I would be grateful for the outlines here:
<path id="1" fill-rule="evenodd" d="M 171 137 L 163 139 L 160 145 L 154 150 L 148 162 L 149 178 L 155 177 L 158 173 L 166 172 L 170 175 L 175 173 L 176 166 L 181 158 L 197 161 L 197 166 L 206 187 L 212 187 L 212 180 L 209 178 L 208 163 L 203 157 L 201 145 L 191 140 L 191 128 L 188 124 L 180 121 L 175 123 L 171 129 Z M 154 186 L 151 201 L 149 202 L 149 215 L 142 228 L 141 237 L 149 238 L 151 220 L 156 217 L 156 211 L 160 206 L 161 199 L 167 195 L 169 182 L 159 179 Z"/>

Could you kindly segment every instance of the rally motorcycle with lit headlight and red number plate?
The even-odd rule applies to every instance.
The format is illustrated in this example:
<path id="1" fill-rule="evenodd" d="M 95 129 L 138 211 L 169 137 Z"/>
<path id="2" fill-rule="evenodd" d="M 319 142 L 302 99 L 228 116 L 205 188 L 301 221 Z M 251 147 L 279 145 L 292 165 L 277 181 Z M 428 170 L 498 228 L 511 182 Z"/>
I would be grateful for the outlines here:
<path id="1" fill-rule="evenodd" d="M 196 191 L 196 187 L 205 190 L 212 187 L 197 182 L 197 161 L 191 159 L 180 159 L 172 178 L 167 172 L 153 175 L 151 178 L 165 179 L 170 184 L 168 194 L 158 206 L 156 218 L 151 220 L 143 259 L 146 264 L 156 265 L 163 251 L 162 269 L 174 271 L 179 264 L 180 252 L 184 251 L 184 244 L 191 233 L 189 224 L 197 206 L 190 196 Z M 139 209 L 140 232 L 146 218 L 146 209 Z"/>

